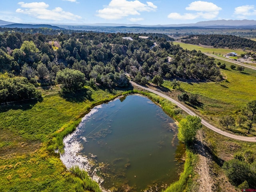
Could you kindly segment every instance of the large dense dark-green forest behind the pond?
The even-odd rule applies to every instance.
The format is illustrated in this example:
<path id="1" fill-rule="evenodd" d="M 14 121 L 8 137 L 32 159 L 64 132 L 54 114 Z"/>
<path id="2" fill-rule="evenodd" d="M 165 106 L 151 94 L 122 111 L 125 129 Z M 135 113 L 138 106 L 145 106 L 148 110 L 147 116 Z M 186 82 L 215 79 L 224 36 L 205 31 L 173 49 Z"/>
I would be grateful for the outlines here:
<path id="1" fill-rule="evenodd" d="M 135 82 L 158 85 L 163 79 L 222 79 L 214 58 L 173 45 L 163 34 L 16 30 L 0 34 L 0 102 L 40 97 L 37 86 L 62 84 L 66 92 L 84 84 L 126 87 L 126 74 Z"/>

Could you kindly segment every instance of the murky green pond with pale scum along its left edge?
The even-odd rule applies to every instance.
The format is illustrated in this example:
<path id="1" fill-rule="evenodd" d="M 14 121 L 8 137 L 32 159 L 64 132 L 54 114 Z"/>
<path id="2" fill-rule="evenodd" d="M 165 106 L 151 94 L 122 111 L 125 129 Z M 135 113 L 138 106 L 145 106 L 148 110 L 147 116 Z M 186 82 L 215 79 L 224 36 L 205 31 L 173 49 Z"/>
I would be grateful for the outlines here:
<path id="1" fill-rule="evenodd" d="M 64 139 L 61 156 L 78 164 L 107 190 L 156 191 L 179 178 L 184 146 L 176 124 L 144 96 L 129 95 L 92 109 Z"/>

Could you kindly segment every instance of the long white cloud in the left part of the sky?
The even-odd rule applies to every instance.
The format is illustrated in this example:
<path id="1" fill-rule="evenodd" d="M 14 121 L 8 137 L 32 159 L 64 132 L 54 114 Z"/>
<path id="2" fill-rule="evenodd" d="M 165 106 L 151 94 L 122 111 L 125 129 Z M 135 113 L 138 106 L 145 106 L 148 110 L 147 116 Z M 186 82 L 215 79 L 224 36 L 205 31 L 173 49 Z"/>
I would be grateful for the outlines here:
<path id="1" fill-rule="evenodd" d="M 27 14 L 30 16 L 34 16 L 38 19 L 60 21 L 60 20 L 77 20 L 82 18 L 70 12 L 65 12 L 60 7 L 56 7 L 53 10 L 49 10 L 47 9 L 49 5 L 44 2 L 32 2 L 32 3 L 19 2 L 18 4 L 25 9 L 18 8 L 16 10 L 17 13 Z"/>

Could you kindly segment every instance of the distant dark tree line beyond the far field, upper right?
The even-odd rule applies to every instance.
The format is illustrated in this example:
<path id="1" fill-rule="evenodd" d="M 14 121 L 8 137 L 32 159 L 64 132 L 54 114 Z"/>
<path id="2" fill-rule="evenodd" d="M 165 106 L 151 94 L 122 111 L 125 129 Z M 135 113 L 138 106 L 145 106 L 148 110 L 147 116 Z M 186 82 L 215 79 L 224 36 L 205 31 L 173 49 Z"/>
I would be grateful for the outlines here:
<path id="1" fill-rule="evenodd" d="M 202 44 L 214 46 L 216 48 L 230 49 L 246 49 L 256 50 L 256 42 L 247 38 L 242 38 L 234 35 L 197 35 L 188 36 L 182 40 L 184 43 Z"/>

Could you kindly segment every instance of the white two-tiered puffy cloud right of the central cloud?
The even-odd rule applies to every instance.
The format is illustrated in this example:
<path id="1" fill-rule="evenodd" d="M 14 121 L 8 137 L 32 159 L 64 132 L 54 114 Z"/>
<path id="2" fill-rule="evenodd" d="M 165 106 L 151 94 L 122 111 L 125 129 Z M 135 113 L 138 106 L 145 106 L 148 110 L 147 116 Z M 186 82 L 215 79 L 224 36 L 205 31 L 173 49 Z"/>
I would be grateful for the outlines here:
<path id="1" fill-rule="evenodd" d="M 219 14 L 222 8 L 206 1 L 194 1 L 185 8 L 188 11 L 196 11 L 196 13 L 170 13 L 168 18 L 176 20 L 193 20 L 196 18 L 213 19 Z"/>

